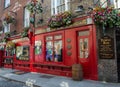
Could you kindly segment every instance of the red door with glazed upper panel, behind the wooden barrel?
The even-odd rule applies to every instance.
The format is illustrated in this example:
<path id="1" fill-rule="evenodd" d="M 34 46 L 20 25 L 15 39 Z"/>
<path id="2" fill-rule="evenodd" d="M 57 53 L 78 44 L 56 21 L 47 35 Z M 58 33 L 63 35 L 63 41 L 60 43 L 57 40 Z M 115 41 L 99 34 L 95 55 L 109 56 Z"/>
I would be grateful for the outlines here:
<path id="1" fill-rule="evenodd" d="M 83 76 L 86 79 L 90 78 L 91 71 L 91 59 L 93 58 L 90 54 L 92 41 L 90 41 L 90 31 L 82 30 L 77 32 L 77 44 L 78 44 L 78 61 L 83 68 Z"/>

